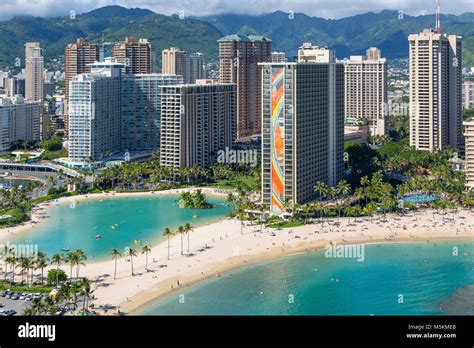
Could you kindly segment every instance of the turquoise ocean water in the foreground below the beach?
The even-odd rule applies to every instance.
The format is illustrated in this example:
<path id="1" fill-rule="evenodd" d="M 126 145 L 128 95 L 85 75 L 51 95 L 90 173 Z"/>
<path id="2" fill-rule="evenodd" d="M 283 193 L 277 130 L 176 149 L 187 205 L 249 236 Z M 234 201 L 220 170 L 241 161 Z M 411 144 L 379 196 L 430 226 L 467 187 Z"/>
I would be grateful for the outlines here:
<path id="1" fill-rule="evenodd" d="M 364 262 L 293 255 L 176 291 L 139 314 L 474 315 L 473 257 L 473 240 L 367 245 Z"/>

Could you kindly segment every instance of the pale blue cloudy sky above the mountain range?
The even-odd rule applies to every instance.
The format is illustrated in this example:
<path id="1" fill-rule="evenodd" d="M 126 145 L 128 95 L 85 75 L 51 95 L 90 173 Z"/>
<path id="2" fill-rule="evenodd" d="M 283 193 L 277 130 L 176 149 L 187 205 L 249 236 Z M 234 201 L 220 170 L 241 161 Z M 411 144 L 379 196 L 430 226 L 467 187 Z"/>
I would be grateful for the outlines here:
<path id="1" fill-rule="evenodd" d="M 342 18 L 384 9 L 409 15 L 435 12 L 435 0 L 0 0 L 0 20 L 15 15 L 63 16 L 88 12 L 107 5 L 146 8 L 161 14 L 207 16 L 220 13 L 258 15 L 277 10 L 302 12 L 323 18 Z M 442 13 L 474 12 L 474 0 L 441 0 Z"/>

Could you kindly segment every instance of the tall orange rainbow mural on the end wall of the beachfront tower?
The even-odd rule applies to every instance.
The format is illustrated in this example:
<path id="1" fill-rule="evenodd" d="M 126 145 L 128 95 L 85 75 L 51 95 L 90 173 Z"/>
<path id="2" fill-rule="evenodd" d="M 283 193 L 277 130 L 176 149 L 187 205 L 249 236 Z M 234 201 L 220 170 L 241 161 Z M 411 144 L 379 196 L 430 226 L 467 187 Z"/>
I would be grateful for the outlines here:
<path id="1" fill-rule="evenodd" d="M 285 201 L 285 68 L 274 68 L 272 71 L 272 210 L 275 213 L 284 211 Z"/>

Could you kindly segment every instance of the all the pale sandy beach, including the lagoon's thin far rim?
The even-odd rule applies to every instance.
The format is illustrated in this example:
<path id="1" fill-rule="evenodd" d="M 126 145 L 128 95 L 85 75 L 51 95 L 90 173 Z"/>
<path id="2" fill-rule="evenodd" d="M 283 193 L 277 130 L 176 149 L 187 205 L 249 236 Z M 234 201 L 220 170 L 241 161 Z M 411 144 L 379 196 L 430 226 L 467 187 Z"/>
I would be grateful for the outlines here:
<path id="1" fill-rule="evenodd" d="M 154 194 L 176 194 L 182 190 L 156 192 Z M 203 189 L 206 194 L 225 194 L 212 189 Z M 127 195 L 150 195 L 133 193 Z M 92 197 L 93 196 L 93 197 Z M 100 194 L 68 197 L 58 202 L 39 207 L 34 217 L 37 221 L 47 214 L 51 204 L 62 204 L 78 199 L 100 199 L 122 197 L 122 194 Z M 474 213 L 459 209 L 455 214 L 433 215 L 432 210 L 410 213 L 403 217 L 387 215 L 371 218 L 324 219 L 289 229 L 264 228 L 260 225 L 245 226 L 241 234 L 240 221 L 226 219 L 218 223 L 197 227 L 190 234 L 189 253 L 187 237 L 184 237 L 184 255 L 181 255 L 181 238 L 170 239 L 170 260 L 167 260 L 167 240 L 155 245 L 148 255 L 148 271 L 145 270 L 145 255 L 133 258 L 135 275 L 131 275 L 130 260 L 117 261 L 117 279 L 113 279 L 114 261 L 87 263 L 81 267 L 80 275 L 96 280 L 95 306 L 111 304 L 122 312 L 139 313 L 150 301 L 191 286 L 198 281 L 218 277 L 220 273 L 236 267 L 285 255 L 312 252 L 324 249 L 330 243 L 391 243 L 391 242 L 442 242 L 443 238 L 474 238 Z M 18 233 L 32 226 L 19 226 L 13 232 L 0 230 L 0 241 L 11 233 Z M 34 226 L 34 223 L 32 224 Z M 138 247 L 137 247 L 138 249 Z M 67 270 L 68 266 L 63 266 Z M 116 314 L 108 311 L 107 314 Z"/>

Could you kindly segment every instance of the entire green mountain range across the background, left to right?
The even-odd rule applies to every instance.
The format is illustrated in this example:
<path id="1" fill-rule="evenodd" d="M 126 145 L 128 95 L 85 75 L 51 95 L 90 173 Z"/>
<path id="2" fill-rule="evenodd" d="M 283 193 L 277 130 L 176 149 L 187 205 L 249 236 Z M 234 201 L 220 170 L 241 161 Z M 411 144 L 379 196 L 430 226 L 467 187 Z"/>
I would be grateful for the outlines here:
<path id="1" fill-rule="evenodd" d="M 296 54 L 303 42 L 336 49 L 338 58 L 364 54 L 368 47 L 382 49 L 389 59 L 407 58 L 410 33 L 434 26 L 434 15 L 399 18 L 398 11 L 365 13 L 341 19 L 323 19 L 277 11 L 258 16 L 220 14 L 208 17 L 165 16 L 150 10 L 106 6 L 88 13 L 40 18 L 18 16 L 0 22 L 0 67 L 12 67 L 16 57 L 24 58 L 24 44 L 39 41 L 46 60 L 62 58 L 64 48 L 78 37 L 100 42 L 121 41 L 126 36 L 149 39 L 161 50 L 179 47 L 188 52 L 202 52 L 206 60 L 218 57 L 216 41 L 228 34 L 260 34 L 273 41 L 275 51 L 287 56 Z M 474 13 L 443 15 L 443 32 L 463 36 L 463 65 L 474 66 Z"/>

